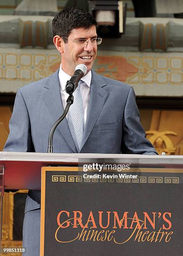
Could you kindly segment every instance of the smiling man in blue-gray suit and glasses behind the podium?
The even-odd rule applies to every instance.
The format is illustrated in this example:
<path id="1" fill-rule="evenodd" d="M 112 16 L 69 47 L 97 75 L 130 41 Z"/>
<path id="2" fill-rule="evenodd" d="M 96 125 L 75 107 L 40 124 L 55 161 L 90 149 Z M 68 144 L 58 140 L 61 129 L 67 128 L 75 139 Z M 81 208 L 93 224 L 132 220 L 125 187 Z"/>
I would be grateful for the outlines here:
<path id="1" fill-rule="evenodd" d="M 76 65 L 85 64 L 87 74 L 78 92 L 82 96 L 82 115 L 71 112 L 58 125 L 53 153 L 157 154 L 145 138 L 132 87 L 91 70 L 97 44 L 102 41 L 94 17 L 86 10 L 68 8 L 55 16 L 52 26 L 61 67 L 50 77 L 17 91 L 4 151 L 47 152 L 49 132 L 64 112 L 69 96 L 66 81 Z M 76 103 L 72 106 L 77 108 Z M 74 119 L 78 118 L 79 123 L 80 117 L 83 123 L 79 143 Z M 40 191 L 28 192 L 23 225 L 23 247 L 28 256 L 39 255 L 40 202 Z"/>

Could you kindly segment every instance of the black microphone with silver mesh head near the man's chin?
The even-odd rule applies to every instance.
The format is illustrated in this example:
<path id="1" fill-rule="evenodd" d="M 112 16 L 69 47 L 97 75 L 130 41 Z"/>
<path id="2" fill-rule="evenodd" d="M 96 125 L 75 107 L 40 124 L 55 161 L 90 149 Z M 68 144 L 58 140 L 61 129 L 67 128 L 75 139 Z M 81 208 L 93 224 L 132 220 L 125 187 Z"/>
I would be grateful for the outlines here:
<path id="1" fill-rule="evenodd" d="M 84 64 L 79 64 L 75 68 L 75 72 L 72 75 L 71 79 L 66 82 L 66 92 L 72 94 L 77 86 L 79 80 L 86 75 L 87 67 Z"/>

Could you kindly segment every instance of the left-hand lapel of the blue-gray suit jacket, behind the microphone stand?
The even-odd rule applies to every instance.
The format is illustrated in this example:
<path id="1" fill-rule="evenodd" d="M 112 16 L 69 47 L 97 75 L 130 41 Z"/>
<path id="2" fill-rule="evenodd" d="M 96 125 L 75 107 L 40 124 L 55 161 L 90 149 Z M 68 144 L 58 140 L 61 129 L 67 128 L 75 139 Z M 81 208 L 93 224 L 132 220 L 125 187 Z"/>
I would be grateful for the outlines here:
<path id="1" fill-rule="evenodd" d="M 64 108 L 61 100 L 58 71 L 59 69 L 50 77 L 48 77 L 48 80 L 44 85 L 44 94 L 43 94 L 43 99 L 53 117 L 53 123 L 55 123 L 56 120 L 58 120 L 58 118 L 60 118 L 61 115 L 64 113 Z M 76 146 L 71 136 L 71 132 L 70 132 L 66 118 L 64 118 L 64 120 L 61 121 L 61 123 L 58 125 L 56 129 L 59 129 L 59 131 L 64 136 L 67 143 L 69 144 L 69 146 L 74 151 L 74 153 L 77 153 Z M 54 148 L 54 145 L 53 145 L 53 148 Z"/>

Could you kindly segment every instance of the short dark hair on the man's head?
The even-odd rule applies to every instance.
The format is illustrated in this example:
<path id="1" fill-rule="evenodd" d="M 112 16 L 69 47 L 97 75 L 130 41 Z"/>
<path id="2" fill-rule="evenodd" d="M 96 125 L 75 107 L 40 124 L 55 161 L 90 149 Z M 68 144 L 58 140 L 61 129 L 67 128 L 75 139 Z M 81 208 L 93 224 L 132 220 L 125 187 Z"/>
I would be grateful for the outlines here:
<path id="1" fill-rule="evenodd" d="M 89 29 L 95 26 L 97 29 L 97 21 L 84 9 L 70 7 L 61 10 L 52 20 L 53 36 L 69 37 L 74 28 Z M 67 39 L 63 37 L 65 43 Z"/>

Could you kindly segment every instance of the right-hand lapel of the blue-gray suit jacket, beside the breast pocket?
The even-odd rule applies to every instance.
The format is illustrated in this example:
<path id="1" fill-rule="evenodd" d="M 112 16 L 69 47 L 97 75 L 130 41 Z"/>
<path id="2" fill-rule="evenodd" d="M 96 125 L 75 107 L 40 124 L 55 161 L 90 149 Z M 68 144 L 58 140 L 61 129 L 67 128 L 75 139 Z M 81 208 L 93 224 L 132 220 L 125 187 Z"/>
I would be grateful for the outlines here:
<path id="1" fill-rule="evenodd" d="M 81 148 L 88 139 L 107 98 L 108 92 L 102 88 L 105 85 L 106 83 L 104 80 L 97 73 L 92 71 L 89 110 L 86 118 Z"/>

